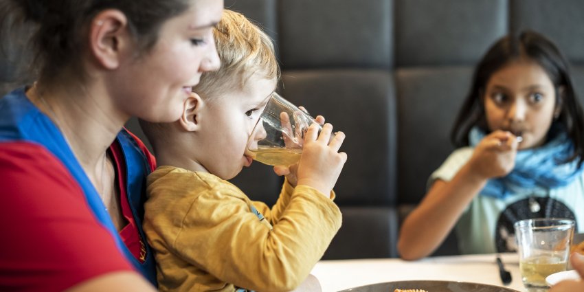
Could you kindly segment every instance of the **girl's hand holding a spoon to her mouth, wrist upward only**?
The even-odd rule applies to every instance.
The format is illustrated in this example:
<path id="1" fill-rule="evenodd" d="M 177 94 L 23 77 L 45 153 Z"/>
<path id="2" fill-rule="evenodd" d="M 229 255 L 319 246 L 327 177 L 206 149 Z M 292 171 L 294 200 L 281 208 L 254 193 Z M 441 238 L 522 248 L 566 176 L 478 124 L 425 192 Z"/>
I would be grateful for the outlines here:
<path id="1" fill-rule="evenodd" d="M 475 147 L 469 167 L 480 179 L 504 177 L 515 167 L 517 137 L 506 131 L 494 131 Z"/>

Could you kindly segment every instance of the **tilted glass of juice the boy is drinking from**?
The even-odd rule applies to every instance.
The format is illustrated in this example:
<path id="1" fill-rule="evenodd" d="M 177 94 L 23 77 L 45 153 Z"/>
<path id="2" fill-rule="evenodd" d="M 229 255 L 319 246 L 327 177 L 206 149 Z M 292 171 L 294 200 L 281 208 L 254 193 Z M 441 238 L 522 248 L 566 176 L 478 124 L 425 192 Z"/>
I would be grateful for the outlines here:
<path id="1" fill-rule="evenodd" d="M 271 166 L 295 164 L 302 154 L 304 134 L 313 123 L 318 124 L 306 111 L 274 92 L 249 135 L 246 155 Z M 330 139 L 333 137 L 331 134 Z"/>

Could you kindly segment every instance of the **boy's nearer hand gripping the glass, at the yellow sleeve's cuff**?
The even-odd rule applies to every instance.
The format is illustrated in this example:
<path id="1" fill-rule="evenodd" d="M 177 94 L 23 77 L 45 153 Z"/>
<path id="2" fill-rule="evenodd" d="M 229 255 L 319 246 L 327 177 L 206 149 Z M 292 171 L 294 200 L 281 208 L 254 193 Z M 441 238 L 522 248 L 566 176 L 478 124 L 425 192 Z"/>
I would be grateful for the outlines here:
<path id="1" fill-rule="evenodd" d="M 324 124 L 320 135 L 316 124 L 308 127 L 296 173 L 297 184 L 311 186 L 327 197 L 347 161 L 346 153 L 338 153 L 345 134 L 337 132 L 335 137 L 330 139 L 332 131 L 331 124 Z"/>

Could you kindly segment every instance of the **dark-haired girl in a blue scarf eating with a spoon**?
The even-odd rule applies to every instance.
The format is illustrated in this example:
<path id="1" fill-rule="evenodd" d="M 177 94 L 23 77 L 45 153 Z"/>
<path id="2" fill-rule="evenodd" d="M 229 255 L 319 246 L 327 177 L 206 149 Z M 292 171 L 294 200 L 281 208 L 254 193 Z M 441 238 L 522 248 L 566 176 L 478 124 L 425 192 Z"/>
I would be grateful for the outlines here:
<path id="1" fill-rule="evenodd" d="M 513 223 L 563 217 L 584 226 L 583 113 L 568 65 L 535 32 L 497 41 L 476 68 L 454 151 L 403 223 L 398 249 L 431 254 L 456 225 L 464 254 L 515 250 Z M 421 236 L 420 236 L 421 234 Z"/>

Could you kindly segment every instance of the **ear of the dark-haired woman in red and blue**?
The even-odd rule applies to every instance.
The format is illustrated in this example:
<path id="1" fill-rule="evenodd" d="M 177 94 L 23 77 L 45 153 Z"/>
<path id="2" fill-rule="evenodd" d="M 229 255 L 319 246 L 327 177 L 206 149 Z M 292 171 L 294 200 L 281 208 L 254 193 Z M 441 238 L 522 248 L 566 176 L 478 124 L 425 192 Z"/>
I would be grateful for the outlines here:
<path id="1" fill-rule="evenodd" d="M 130 47 L 128 20 L 120 10 L 100 12 L 89 26 L 89 51 L 98 65 L 106 69 L 117 68 Z"/>

